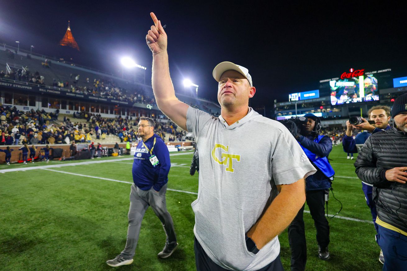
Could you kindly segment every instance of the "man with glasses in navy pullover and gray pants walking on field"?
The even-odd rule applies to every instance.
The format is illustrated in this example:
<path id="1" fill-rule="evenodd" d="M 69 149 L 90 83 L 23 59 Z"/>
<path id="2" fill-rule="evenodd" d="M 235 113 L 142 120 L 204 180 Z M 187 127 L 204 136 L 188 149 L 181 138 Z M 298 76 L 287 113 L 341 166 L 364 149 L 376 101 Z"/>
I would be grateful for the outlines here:
<path id="1" fill-rule="evenodd" d="M 123 251 L 106 263 L 112 267 L 131 264 L 140 234 L 141 221 L 147 208 L 151 206 L 160 219 L 166 234 L 164 249 L 158 253 L 160 258 L 168 258 L 178 246 L 171 214 L 167 211 L 165 193 L 170 153 L 164 141 L 154 133 L 154 120 L 141 117 L 138 135 L 142 138 L 134 153 L 133 182 L 130 192 L 129 226 L 127 242 Z"/>

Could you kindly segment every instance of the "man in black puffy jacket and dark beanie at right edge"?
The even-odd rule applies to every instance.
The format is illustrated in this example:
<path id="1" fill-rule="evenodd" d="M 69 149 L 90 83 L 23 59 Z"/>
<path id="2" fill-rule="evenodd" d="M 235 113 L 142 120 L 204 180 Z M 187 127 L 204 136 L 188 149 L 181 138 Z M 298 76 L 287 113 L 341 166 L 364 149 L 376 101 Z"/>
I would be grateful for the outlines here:
<path id="1" fill-rule="evenodd" d="M 354 164 L 358 177 L 373 185 L 383 271 L 406 268 L 407 94 L 394 101 L 392 117 L 393 128 L 370 136 Z"/>

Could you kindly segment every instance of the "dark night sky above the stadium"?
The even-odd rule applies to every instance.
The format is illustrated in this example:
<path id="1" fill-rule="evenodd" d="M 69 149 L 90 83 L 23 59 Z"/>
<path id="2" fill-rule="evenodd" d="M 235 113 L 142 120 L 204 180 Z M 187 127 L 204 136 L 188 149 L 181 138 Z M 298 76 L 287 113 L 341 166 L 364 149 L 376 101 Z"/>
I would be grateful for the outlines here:
<path id="1" fill-rule="evenodd" d="M 120 70 L 120 57 L 147 67 L 145 35 L 155 12 L 166 24 L 170 72 L 176 91 L 182 80 L 199 85 L 199 96 L 216 101 L 212 70 L 221 61 L 249 69 L 256 87 L 251 105 L 288 101 L 288 94 L 319 87 L 350 68 L 392 68 L 407 76 L 403 7 L 357 1 L 245 4 L 181 1 L 1 1 L 0 42 L 74 63 Z M 266 2 L 266 1 L 264 1 Z M 384 2 L 383 2 L 384 5 Z M 80 52 L 58 46 L 68 20 Z"/>

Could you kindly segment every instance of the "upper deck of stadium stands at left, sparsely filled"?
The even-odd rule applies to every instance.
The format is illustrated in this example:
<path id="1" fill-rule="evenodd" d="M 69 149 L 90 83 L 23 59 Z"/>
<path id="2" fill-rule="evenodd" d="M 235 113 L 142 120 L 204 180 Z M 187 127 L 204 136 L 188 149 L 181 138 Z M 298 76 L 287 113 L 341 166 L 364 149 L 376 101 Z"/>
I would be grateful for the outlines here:
<path id="1" fill-rule="evenodd" d="M 15 88 L 18 90 L 29 88 L 36 92 L 38 90 L 38 93 L 59 94 L 55 95 L 55 98 L 57 98 L 56 96 L 80 98 L 66 101 L 53 99 L 51 101 L 51 98 L 54 98 L 54 95 L 51 95 L 49 101 L 47 98 L 44 98 L 43 101 L 43 97 L 37 96 L 36 101 L 42 103 L 39 106 L 35 102 L 31 104 L 12 103 L 13 97 L 8 98 L 4 102 L 5 104 L 42 107 L 46 111 L 47 108 L 61 109 L 61 113 L 68 114 L 70 112 L 64 110 L 134 117 L 153 117 L 153 115 L 160 114 L 158 107 L 155 105 L 151 86 L 135 81 L 135 78 L 131 80 L 123 79 L 100 71 L 64 63 L 63 61 L 50 60 L 44 56 L 33 55 L 31 57 L 31 55 L 24 55 L 22 52 L 17 54 L 16 50 L 5 45 L 4 48 L 0 47 L 0 70 L 3 70 L 3 72 L 0 72 L 0 80 L 4 81 L 0 85 L 14 83 Z M 47 88 L 41 88 L 43 85 L 47 86 Z M 31 94 L 33 94 L 33 91 L 31 91 Z M 19 94 L 15 95 L 20 98 Z M 220 114 L 220 107 L 217 103 L 182 94 L 177 95 L 188 105 L 207 111 L 215 116 Z M 31 100 L 34 100 L 33 97 Z M 78 103 L 78 100 L 87 100 L 88 103 Z M 99 103 L 89 103 L 95 101 Z M 117 108 L 118 105 L 120 105 L 120 108 Z M 146 107 L 149 110 L 146 110 Z M 108 117 L 107 115 L 103 116 Z"/>

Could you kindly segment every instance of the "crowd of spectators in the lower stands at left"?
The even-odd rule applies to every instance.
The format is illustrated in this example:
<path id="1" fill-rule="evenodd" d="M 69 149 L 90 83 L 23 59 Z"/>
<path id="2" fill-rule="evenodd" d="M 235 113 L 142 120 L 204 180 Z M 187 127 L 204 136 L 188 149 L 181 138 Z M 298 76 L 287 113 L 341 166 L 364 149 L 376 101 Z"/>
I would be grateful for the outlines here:
<path id="1" fill-rule="evenodd" d="M 100 114 L 74 113 L 74 118 L 86 122 L 71 122 L 64 117 L 57 122 L 59 110 L 47 113 L 42 110 L 19 111 L 16 107 L 0 105 L 0 145 L 18 144 L 70 144 L 70 142 L 91 142 L 95 137 L 118 136 L 120 142 L 138 142 L 138 118 L 103 118 Z M 56 122 L 56 123 L 51 123 Z M 175 124 L 156 122 L 155 133 L 161 138 L 170 135 L 170 141 L 186 139 L 185 131 L 177 131 Z M 94 137 L 92 137 L 94 136 Z"/>

